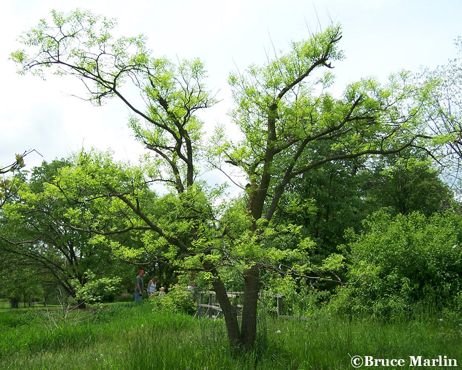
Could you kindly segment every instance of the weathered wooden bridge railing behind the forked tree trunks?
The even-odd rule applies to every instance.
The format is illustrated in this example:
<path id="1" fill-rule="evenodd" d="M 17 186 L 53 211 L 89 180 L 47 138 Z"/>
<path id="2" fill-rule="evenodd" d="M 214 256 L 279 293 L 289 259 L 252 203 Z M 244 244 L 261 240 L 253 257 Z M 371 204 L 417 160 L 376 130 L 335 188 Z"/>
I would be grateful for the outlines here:
<path id="1" fill-rule="evenodd" d="M 199 296 L 198 309 L 194 317 L 209 317 L 211 319 L 218 319 L 223 316 L 223 311 L 221 310 L 220 303 L 218 303 L 217 294 L 215 291 L 198 291 L 196 295 Z M 231 304 L 235 307 L 238 317 L 240 316 L 240 311 L 242 310 L 241 297 L 244 296 L 243 291 L 233 291 L 227 293 Z M 277 317 L 287 318 L 287 319 L 299 319 L 306 320 L 306 317 L 297 317 L 297 316 L 282 316 L 282 298 L 283 295 L 274 295 L 266 293 L 258 293 L 259 297 L 269 297 L 276 299 L 277 306 Z"/>

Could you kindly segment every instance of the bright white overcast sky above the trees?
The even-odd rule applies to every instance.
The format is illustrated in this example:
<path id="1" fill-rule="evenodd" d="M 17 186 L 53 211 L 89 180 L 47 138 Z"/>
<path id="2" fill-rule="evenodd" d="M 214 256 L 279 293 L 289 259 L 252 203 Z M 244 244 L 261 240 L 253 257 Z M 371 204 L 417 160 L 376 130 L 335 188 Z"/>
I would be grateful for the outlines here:
<path id="1" fill-rule="evenodd" d="M 264 64 L 272 44 L 288 50 L 332 19 L 343 28 L 340 47 L 346 59 L 334 64 L 338 91 L 368 75 L 386 81 L 400 69 L 434 68 L 456 56 L 453 41 L 462 35 L 462 0 L 3 0 L 0 30 L 0 165 L 14 153 L 35 149 L 26 164 L 66 157 L 82 146 L 111 148 L 116 159 L 137 162 L 143 148 L 130 136 L 128 110 L 117 100 L 104 107 L 76 99 L 80 87 L 60 77 L 46 81 L 16 74 L 9 54 L 20 48 L 16 37 L 49 11 L 89 9 L 118 19 L 116 35 L 148 37 L 156 56 L 177 60 L 200 57 L 209 87 L 221 103 L 203 118 L 213 126 L 228 123 L 232 107 L 228 73 L 251 63 Z M 270 41 L 271 38 L 271 41 Z M 81 90 L 80 90 L 81 91 Z M 223 179 L 224 181 L 224 179 Z"/>

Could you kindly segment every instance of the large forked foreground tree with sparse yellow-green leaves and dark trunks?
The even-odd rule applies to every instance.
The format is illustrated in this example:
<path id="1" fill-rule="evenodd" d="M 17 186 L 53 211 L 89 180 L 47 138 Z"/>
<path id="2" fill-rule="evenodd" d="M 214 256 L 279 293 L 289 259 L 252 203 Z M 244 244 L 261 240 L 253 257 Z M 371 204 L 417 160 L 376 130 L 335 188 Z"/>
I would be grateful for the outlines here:
<path id="1" fill-rule="evenodd" d="M 206 150 L 203 123 L 196 113 L 216 101 L 204 85 L 203 64 L 192 60 L 175 65 L 152 57 L 145 37 L 113 38 L 114 25 L 88 12 L 52 12 L 51 24 L 41 21 L 23 35 L 26 50 L 12 53 L 12 59 L 22 73 L 43 75 L 51 68 L 77 77 L 93 103 L 117 97 L 131 109 L 130 125 L 151 153 L 149 177 L 171 185 L 172 193 L 163 200 L 169 202 L 168 217 L 145 208 L 134 186 L 122 189 L 114 180 L 99 177 L 99 189 L 137 216 L 138 222 L 129 227 L 148 230 L 152 245 L 169 263 L 180 260 L 189 271 L 203 271 L 223 309 L 230 344 L 252 348 L 261 267 L 300 276 L 310 272 L 309 263 L 284 269 L 276 262 L 290 253 L 306 256 L 309 244 L 299 240 L 298 249 L 287 251 L 272 242 L 281 232 L 298 230 L 294 225 L 285 230 L 273 225 L 287 186 L 326 163 L 424 145 L 419 131 L 422 91 L 409 83 L 407 73 L 399 73 L 386 86 L 372 79 L 351 84 L 339 99 L 326 92 L 333 81 L 332 64 L 343 57 L 338 48 L 340 26 L 332 25 L 307 41 L 292 43 L 290 51 L 275 55 L 264 67 L 232 74 L 233 118 L 243 139 L 229 142 L 219 127 Z M 141 92 L 142 105 L 130 90 L 124 93 L 129 83 Z M 317 143 L 329 150 L 317 151 Z M 226 161 L 245 174 L 245 201 L 216 207 L 219 189 L 198 181 L 206 161 L 216 167 Z M 172 222 L 166 221 L 169 218 Z M 240 271 L 241 326 L 227 297 L 221 266 Z"/>

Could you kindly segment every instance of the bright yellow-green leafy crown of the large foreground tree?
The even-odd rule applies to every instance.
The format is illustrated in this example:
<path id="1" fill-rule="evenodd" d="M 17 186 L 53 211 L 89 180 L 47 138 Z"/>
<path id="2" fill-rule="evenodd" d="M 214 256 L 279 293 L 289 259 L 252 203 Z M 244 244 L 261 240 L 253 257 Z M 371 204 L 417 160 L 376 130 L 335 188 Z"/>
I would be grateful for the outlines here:
<path id="1" fill-rule="evenodd" d="M 136 139 L 150 150 L 142 166 L 113 163 L 108 153 L 82 150 L 70 165 L 57 168 L 42 189 L 31 188 L 24 192 L 23 203 L 6 209 L 13 235 L 14 226 L 26 225 L 21 229 L 39 240 L 45 222 L 41 230 L 34 230 L 31 225 L 37 220 L 26 215 L 46 205 L 40 208 L 40 220 L 64 232 L 53 235 L 52 242 L 41 242 L 55 265 L 63 265 L 67 273 L 74 268 L 82 287 L 88 280 L 86 271 L 104 274 L 103 268 L 97 271 L 96 261 L 110 264 L 113 257 L 167 266 L 170 271 L 194 271 L 221 291 L 226 280 L 244 285 L 247 298 L 256 295 L 259 269 L 302 278 L 336 277 L 335 271 L 344 265 L 335 250 L 338 233 L 348 225 L 338 225 L 328 236 L 326 230 L 335 221 L 329 222 L 332 213 L 325 207 L 316 229 L 324 235 L 310 235 L 312 230 L 303 221 L 313 218 L 330 194 L 316 191 L 318 186 L 311 191 L 313 196 L 304 197 L 305 189 L 294 185 L 315 168 L 331 165 L 318 176 L 317 185 L 336 173 L 349 179 L 357 173 L 355 160 L 364 164 L 375 155 L 440 141 L 423 134 L 430 87 L 420 85 L 409 72 L 391 75 L 384 85 L 374 79 L 354 82 L 340 99 L 328 92 L 333 83 L 329 69 L 343 58 L 339 25 L 292 43 L 290 51 L 277 53 L 264 67 L 251 65 L 244 73 L 230 75 L 236 103 L 232 117 L 243 136 L 232 142 L 218 127 L 207 147 L 197 111 L 216 100 L 205 86 L 200 60 L 175 64 L 153 57 L 144 36 L 115 38 L 110 33 L 114 21 L 87 11 L 67 15 L 53 11 L 51 18 L 50 24 L 41 21 L 23 34 L 20 41 L 27 50 L 12 53 L 20 72 L 43 75 L 50 68 L 73 75 L 83 81 L 88 100 L 95 104 L 119 98 L 132 112 L 130 126 Z M 123 94 L 130 91 L 122 89 L 127 84 L 139 90 L 138 101 L 144 105 L 135 106 L 131 96 Z M 199 180 L 204 160 L 207 167 L 221 168 L 225 162 L 244 174 L 247 185 L 239 199 L 228 200 L 224 186 L 211 187 Z M 345 163 L 351 166 L 349 171 L 342 169 Z M 160 198 L 149 188 L 149 183 L 159 181 L 171 190 Z M 336 185 L 330 192 L 336 192 Z M 295 194 L 287 194 L 294 188 Z M 311 201 L 319 194 L 323 199 Z M 339 206 L 341 197 L 336 197 L 332 208 L 337 216 L 350 217 L 353 198 L 350 208 L 344 209 Z M 295 217 L 274 217 L 279 211 L 278 216 L 285 211 Z M 323 237 L 330 239 L 329 246 L 316 250 Z M 68 245 L 78 251 L 70 255 L 81 257 L 70 258 L 72 266 L 62 255 Z M 78 266 L 74 260 L 79 260 Z M 238 275 L 222 279 L 230 270 L 239 271 L 240 283 L 233 281 Z M 292 284 L 287 278 L 287 287 L 294 291 Z M 165 306 L 188 310 L 184 292 L 172 289 L 170 295 Z M 224 294 L 219 297 L 226 300 Z M 242 328 L 246 338 L 241 338 L 235 312 L 227 310 L 224 315 L 232 345 L 252 348 L 255 307 L 243 310 L 243 316 L 248 315 Z"/>

